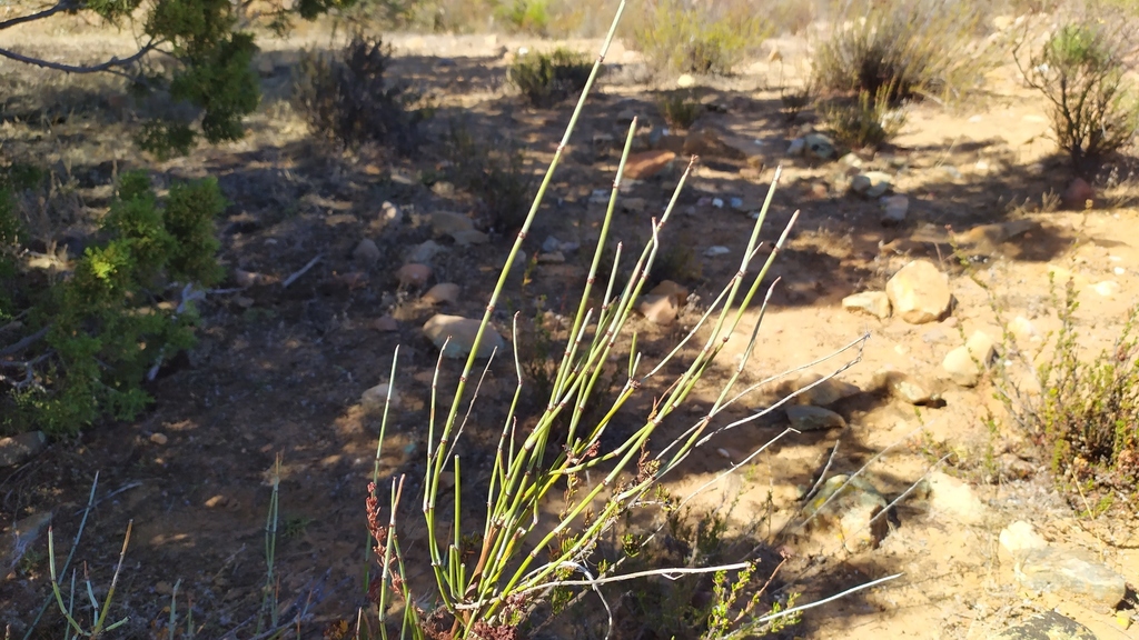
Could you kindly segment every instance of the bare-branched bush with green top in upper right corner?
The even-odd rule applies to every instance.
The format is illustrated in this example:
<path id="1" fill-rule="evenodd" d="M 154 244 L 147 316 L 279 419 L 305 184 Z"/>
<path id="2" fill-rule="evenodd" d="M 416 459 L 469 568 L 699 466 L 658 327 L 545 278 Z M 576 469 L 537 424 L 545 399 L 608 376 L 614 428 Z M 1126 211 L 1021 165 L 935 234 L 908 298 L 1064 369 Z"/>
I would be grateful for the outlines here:
<path id="1" fill-rule="evenodd" d="M 1126 20 L 1068 23 L 1017 64 L 1029 84 L 1048 99 L 1052 133 L 1076 173 L 1091 175 L 1100 161 L 1128 145 L 1139 126 L 1136 88 L 1124 77 Z M 1133 24 L 1131 25 L 1133 27 Z"/>

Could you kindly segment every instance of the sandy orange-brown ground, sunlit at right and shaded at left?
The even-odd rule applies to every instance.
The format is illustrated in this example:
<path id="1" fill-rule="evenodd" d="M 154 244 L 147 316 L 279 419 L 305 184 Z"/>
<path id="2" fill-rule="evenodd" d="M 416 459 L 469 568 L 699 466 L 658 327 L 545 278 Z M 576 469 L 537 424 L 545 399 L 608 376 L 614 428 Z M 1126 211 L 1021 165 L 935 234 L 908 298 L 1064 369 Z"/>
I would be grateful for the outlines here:
<path id="1" fill-rule="evenodd" d="M 106 35 L 84 35 L 90 39 L 82 42 L 74 38 L 74 33 L 58 34 L 50 46 L 42 41 L 39 46 L 58 50 L 57 44 L 67 43 L 93 54 L 96 44 L 105 51 L 128 44 Z M 393 273 L 408 249 L 431 237 L 426 225 L 418 223 L 419 216 L 439 210 L 470 211 L 472 203 L 464 194 L 436 195 L 419 182 L 419 175 L 436 169 L 436 149 L 428 148 L 411 161 L 390 158 L 382 150 L 345 157 L 309 139 L 287 102 L 290 66 L 298 48 L 323 41 L 319 33 L 311 33 L 265 46 L 267 61 L 259 67 L 265 100 L 251 118 L 246 140 L 151 165 L 162 177 L 219 178 L 232 200 L 220 224 L 222 257 L 230 268 L 282 278 L 318 254 L 322 262 L 288 289 L 267 285 L 212 296 L 204 307 L 199 346 L 154 384 L 157 402 L 151 412 L 136 422 L 89 429 L 75 441 L 55 443 L 0 478 L 0 524 L 50 511 L 57 539 L 69 540 L 99 473 L 97 506 L 76 557 L 105 584 L 123 530 L 128 520 L 133 522 L 129 561 L 116 598 L 120 610 L 133 616 L 133 637 L 163 624 L 166 594 L 177 581 L 181 581 L 180 592 L 192 597 L 196 617 L 205 624 L 203 637 L 220 637 L 256 610 L 264 580 L 267 481 L 278 454 L 284 460 L 284 532 L 277 551 L 282 601 L 304 598 L 313 586 L 319 591 L 318 615 L 302 630 L 305 638 L 319 637 L 331 620 L 352 616 L 362 604 L 358 584 L 364 544 L 363 497 L 378 426 L 362 413 L 358 401 L 363 389 L 386 379 L 396 345 L 401 346 L 402 409 L 390 429 L 382 468 L 384 474 L 407 470 L 415 477 L 421 467 L 436 352 L 419 327 L 434 310 L 418 300 L 418 292 L 396 290 Z M 511 48 L 546 43 L 408 35 L 393 36 L 392 42 L 399 56 L 393 73 L 437 100 L 433 134 L 439 136 L 449 121 L 462 122 L 476 137 L 494 139 L 506 133 L 527 145 L 535 172 L 549 161 L 570 106 L 547 110 L 523 106 L 505 87 L 498 49 L 503 43 Z M 596 42 L 584 44 L 589 50 L 597 48 Z M 790 44 L 782 48 L 794 51 Z M 575 138 L 581 142 L 570 150 L 552 197 L 531 233 L 538 244 L 555 235 L 589 246 L 600 214 L 588 204 L 589 195 L 609 184 L 616 166 L 616 154 L 598 156 L 590 140 L 595 133 L 618 133 L 618 114 L 625 109 L 658 121 L 653 91 L 669 82 L 641 82 L 636 55 L 615 59 L 621 61 L 591 98 Z M 788 60 L 787 66 L 794 64 Z M 49 117 L 5 121 L 7 159 L 50 164 L 77 186 L 75 218 L 46 215 L 43 233 L 89 225 L 90 216 L 107 205 L 112 173 L 147 164 L 123 142 L 137 114 L 116 98 L 114 83 L 49 77 L 8 64 L 0 66 L 0 73 L 13 88 L 10 96 L 17 96 L 21 88 L 39 87 L 51 98 L 44 112 Z M 666 231 L 667 241 L 693 248 L 693 262 L 675 277 L 705 304 L 738 263 L 731 256 L 704 257 L 704 249 L 723 245 L 738 255 L 752 220 L 730 208 L 713 208 L 702 198 L 757 202 L 765 194 L 772 167 L 798 126 L 787 124 L 778 113 L 773 83 L 779 73 L 767 63 L 756 63 L 738 77 L 699 90 L 702 99 L 715 107 L 702 122 L 762 140 L 771 150 L 771 162 L 762 172 L 728 161 L 703 165 Z M 974 278 L 991 287 L 1009 317 L 1025 315 L 1041 334 L 1055 328 L 1049 265 L 1064 265 L 1089 282 L 1118 282 L 1114 297 L 1085 293 L 1079 312 L 1089 345 L 1098 350 L 1109 342 L 1139 281 L 1134 240 L 1139 213 L 1116 206 L 1123 200 L 1107 198 L 1087 212 L 1014 206 L 1025 200 L 1039 204 L 1044 194 L 1065 186 L 1065 169 L 1050 156 L 1046 131 L 1041 100 L 1019 85 L 1011 67 L 993 73 L 988 93 L 958 109 L 916 107 L 888 150 L 908 167 L 896 188 L 910 195 L 910 220 L 898 228 L 879 224 L 876 203 L 833 190 L 820 197 L 818 186 L 831 183 L 837 171 L 834 164 L 787 161 L 764 238 L 773 239 L 796 208 L 802 219 L 776 266 L 782 282 L 748 364 L 749 379 L 826 355 L 863 333 L 870 337 L 861 362 L 844 372 L 843 379 L 866 388 L 883 364 L 933 379 L 962 331 L 985 329 L 997 335 L 992 305 Z M 622 214 L 615 236 L 629 243 L 644 239 L 650 212 L 666 203 L 673 182 L 664 178 L 633 187 L 629 195 L 645 198 L 647 206 L 641 213 Z M 385 223 L 379 206 L 384 200 L 403 210 L 403 223 Z M 980 249 L 972 273 L 951 259 L 947 227 L 959 231 L 1010 219 L 1031 220 L 1035 227 L 1014 243 Z M 351 252 L 362 237 L 377 241 L 380 262 L 362 278 L 344 278 L 354 271 Z M 434 279 L 462 287 L 460 302 L 448 312 L 480 312 L 510 239 L 492 233 L 487 245 L 450 246 L 436 259 Z M 535 252 L 536 245 L 527 248 Z M 891 273 L 916 256 L 931 257 L 953 274 L 958 303 L 950 320 L 911 326 L 841 309 L 845 295 L 880 289 Z M 571 309 L 584 265 L 584 259 L 571 256 L 565 264 L 539 265 L 527 282 L 515 277 L 503 306 L 522 311 L 524 318 L 533 315 L 540 300 L 554 313 Z M 685 311 L 681 327 L 694 320 L 699 304 Z M 385 314 L 399 320 L 399 330 L 371 328 Z M 681 335 L 680 328 L 637 322 L 647 336 L 644 348 L 649 355 L 659 355 Z M 819 370 L 834 370 L 850 356 L 828 361 Z M 448 363 L 443 375 L 453 378 L 454 366 Z M 511 380 L 508 362 L 491 367 L 482 393 L 485 408 L 476 409 L 474 427 L 466 436 L 469 468 L 477 468 L 491 451 L 497 404 L 509 397 Z M 838 544 L 804 547 L 785 567 L 780 585 L 788 592 L 801 591 L 801 601 L 884 575 L 903 575 L 810 612 L 794 634 L 985 638 L 1032 612 L 1058 605 L 1101 639 L 1134 637 L 1134 627 L 1122 630 L 1106 612 L 1016 589 L 1009 558 L 995 542 L 998 532 L 1011 520 L 1033 522 L 1057 544 L 1093 550 L 1130 584 L 1139 583 L 1139 540 L 1133 514 L 1079 517 L 1050 490 L 1044 462 L 1033 458 L 1022 435 L 1010 429 L 990 432 L 983 418 L 988 409 L 998 410 L 991 394 L 988 381 L 975 389 L 948 385 L 945 405 L 923 409 L 920 415 L 880 394 L 860 394 L 841 405 L 847 428 L 785 436 L 703 494 L 695 507 L 706 510 L 734 503 L 727 512 L 732 531 L 761 523 L 753 535 L 760 543 L 773 544 L 802 487 L 814 482 L 836 440 L 842 444 L 831 473 L 853 471 L 871 461 L 868 473 L 887 495 L 898 495 L 921 478 L 942 452 L 956 451 L 958 466 L 944 470 L 974 483 L 975 493 L 990 507 L 985 517 L 965 525 L 954 515 L 918 500 L 899 507 L 892 531 L 877 550 L 847 553 Z M 634 409 L 644 409 L 645 402 Z M 737 413 L 741 415 L 743 410 Z M 636 424 L 636 411 L 630 413 L 625 428 Z M 721 436 L 694 457 L 669 490 L 686 494 L 770 441 L 784 426 L 770 419 Z M 871 460 L 879 452 L 885 453 Z M 1006 467 L 1018 456 L 1040 473 L 1027 477 L 1009 473 Z M 409 535 L 413 539 L 415 532 Z M 14 637 L 23 634 L 48 593 L 43 547 L 41 541 L 40 549 L 0 582 L 0 623 L 10 625 Z M 1130 606 L 1133 612 L 1133 599 Z M 585 624 L 564 624 L 559 633 L 598 637 Z"/>

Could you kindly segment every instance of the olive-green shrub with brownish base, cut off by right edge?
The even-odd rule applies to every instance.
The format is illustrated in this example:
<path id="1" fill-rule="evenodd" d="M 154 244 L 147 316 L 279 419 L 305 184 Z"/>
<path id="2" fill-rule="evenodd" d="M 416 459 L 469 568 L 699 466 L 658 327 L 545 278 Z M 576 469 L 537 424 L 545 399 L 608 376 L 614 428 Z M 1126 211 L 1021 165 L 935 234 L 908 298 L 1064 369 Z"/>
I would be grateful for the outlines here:
<path id="1" fill-rule="evenodd" d="M 1029 426 L 1051 453 L 1062 486 L 1074 494 L 1114 490 L 1133 499 L 1139 483 L 1139 305 L 1114 345 L 1090 361 L 1080 359 L 1079 302 L 1071 282 L 1056 306 L 1062 327 L 1055 351 L 1039 369 L 1044 392 L 1029 411 Z"/>

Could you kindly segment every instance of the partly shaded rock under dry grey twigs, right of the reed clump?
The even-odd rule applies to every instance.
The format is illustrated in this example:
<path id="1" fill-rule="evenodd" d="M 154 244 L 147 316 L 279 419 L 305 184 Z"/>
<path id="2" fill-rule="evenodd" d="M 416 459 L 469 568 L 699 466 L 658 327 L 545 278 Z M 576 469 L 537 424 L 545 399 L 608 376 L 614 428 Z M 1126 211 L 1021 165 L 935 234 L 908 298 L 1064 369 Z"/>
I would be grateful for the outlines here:
<path id="1" fill-rule="evenodd" d="M 827 478 L 819 493 L 803 507 L 810 525 L 835 530 L 850 550 L 874 549 L 890 533 L 890 523 L 879 517 L 888 503 L 861 476 Z"/>

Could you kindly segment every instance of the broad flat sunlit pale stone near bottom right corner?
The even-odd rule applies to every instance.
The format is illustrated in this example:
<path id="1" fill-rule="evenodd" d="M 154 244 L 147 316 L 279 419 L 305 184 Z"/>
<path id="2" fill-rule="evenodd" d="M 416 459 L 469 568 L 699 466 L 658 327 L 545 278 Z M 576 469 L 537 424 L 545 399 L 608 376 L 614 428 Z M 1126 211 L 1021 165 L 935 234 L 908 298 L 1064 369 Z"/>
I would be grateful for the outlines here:
<path id="1" fill-rule="evenodd" d="M 1026 589 L 1085 598 L 1114 609 L 1126 593 L 1126 581 L 1082 549 L 1033 549 L 1016 565 Z"/>

